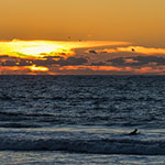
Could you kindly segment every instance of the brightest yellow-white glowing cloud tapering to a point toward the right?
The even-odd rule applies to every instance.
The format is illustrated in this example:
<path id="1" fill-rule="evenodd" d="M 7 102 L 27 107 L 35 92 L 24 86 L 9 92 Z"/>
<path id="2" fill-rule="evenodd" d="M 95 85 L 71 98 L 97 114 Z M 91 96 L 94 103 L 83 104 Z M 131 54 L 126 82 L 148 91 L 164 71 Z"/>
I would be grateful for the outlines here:
<path id="1" fill-rule="evenodd" d="M 20 41 L 0 42 L 0 55 L 9 55 L 20 58 L 44 58 L 45 56 L 66 55 L 73 56 L 76 48 L 128 45 L 128 42 L 112 41 Z"/>

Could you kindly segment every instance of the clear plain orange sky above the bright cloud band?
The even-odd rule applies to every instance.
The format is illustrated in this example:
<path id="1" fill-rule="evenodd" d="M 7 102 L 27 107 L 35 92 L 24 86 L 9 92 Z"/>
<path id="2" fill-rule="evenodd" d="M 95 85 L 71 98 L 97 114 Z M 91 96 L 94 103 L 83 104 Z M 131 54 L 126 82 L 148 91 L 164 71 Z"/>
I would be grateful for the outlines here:
<path id="1" fill-rule="evenodd" d="M 1 40 L 108 40 L 164 46 L 164 0 L 1 0 Z"/>

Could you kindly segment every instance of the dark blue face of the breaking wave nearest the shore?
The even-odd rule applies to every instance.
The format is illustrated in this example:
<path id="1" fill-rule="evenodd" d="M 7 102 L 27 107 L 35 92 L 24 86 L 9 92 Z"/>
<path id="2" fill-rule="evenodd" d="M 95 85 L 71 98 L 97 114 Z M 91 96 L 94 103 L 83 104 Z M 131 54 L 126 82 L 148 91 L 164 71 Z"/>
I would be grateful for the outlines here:
<path id="1" fill-rule="evenodd" d="M 88 154 L 165 155 L 165 141 L 139 141 L 116 139 L 0 139 L 0 150 L 64 151 Z"/>

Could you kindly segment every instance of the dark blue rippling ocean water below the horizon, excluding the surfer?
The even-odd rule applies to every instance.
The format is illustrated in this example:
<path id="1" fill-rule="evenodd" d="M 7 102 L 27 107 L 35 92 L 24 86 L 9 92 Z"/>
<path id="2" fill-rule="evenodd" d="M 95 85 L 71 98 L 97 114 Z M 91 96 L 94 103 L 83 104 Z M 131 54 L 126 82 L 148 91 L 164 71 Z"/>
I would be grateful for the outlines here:
<path id="1" fill-rule="evenodd" d="M 0 76 L 0 164 L 164 165 L 165 76 Z"/>

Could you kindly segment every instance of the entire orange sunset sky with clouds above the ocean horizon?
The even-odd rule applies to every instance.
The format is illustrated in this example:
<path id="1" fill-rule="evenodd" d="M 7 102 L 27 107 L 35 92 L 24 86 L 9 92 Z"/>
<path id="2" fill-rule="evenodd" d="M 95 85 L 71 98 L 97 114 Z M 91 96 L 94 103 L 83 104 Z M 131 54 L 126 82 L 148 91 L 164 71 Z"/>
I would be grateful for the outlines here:
<path id="1" fill-rule="evenodd" d="M 165 0 L 1 0 L 1 75 L 165 74 Z"/>

